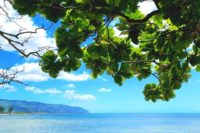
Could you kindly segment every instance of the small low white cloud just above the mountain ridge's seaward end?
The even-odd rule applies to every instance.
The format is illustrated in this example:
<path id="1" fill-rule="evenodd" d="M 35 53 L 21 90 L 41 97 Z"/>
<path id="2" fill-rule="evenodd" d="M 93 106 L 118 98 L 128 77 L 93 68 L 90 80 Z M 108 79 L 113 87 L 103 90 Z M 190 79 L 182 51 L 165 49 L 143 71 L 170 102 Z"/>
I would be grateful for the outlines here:
<path id="1" fill-rule="evenodd" d="M 78 94 L 74 90 L 66 90 L 64 97 L 76 100 L 96 100 L 96 97 L 92 94 Z"/>

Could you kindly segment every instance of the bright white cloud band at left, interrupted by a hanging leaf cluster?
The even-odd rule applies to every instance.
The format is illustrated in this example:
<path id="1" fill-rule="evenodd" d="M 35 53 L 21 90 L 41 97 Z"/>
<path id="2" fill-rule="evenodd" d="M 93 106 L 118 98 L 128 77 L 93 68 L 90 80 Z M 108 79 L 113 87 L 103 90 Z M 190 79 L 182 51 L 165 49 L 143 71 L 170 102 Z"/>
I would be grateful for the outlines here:
<path id="1" fill-rule="evenodd" d="M 26 62 L 24 64 L 15 65 L 11 70 L 23 70 L 22 73 L 17 74 L 17 79 L 21 81 L 41 82 L 52 79 L 47 73 L 44 73 L 38 62 Z M 57 79 L 66 81 L 87 81 L 90 75 L 87 72 L 81 74 L 60 72 Z"/>

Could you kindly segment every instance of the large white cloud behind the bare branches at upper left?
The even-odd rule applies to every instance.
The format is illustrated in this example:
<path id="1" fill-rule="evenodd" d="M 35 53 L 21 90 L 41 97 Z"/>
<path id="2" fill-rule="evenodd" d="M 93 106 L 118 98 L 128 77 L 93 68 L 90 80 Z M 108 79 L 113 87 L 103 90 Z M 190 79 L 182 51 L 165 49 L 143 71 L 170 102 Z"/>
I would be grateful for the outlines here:
<path id="1" fill-rule="evenodd" d="M 10 19 L 5 15 L 5 12 L 0 9 L 0 30 L 7 32 L 7 33 L 12 33 L 12 34 L 17 34 L 19 33 L 20 30 L 23 31 L 35 31 L 36 28 L 39 28 L 34 24 L 32 21 L 32 18 L 29 17 L 28 15 L 25 16 L 20 16 L 13 8 L 12 6 L 6 1 L 6 7 L 4 5 L 4 1 L 0 1 L 0 6 L 4 8 L 4 10 L 7 12 L 7 15 L 12 18 L 13 21 L 10 21 Z M 27 38 L 30 37 L 30 34 L 23 34 L 19 36 L 19 39 L 17 38 L 12 38 L 14 40 L 24 42 Z M 0 36 L 0 42 L 1 42 L 1 48 L 5 51 L 15 51 L 14 48 L 12 48 L 7 40 L 2 38 Z M 54 47 L 55 48 L 55 39 L 48 37 L 47 32 L 44 29 L 40 29 L 37 31 L 36 34 L 31 35 L 31 39 L 28 40 L 27 43 L 25 43 L 24 46 L 16 45 L 19 49 L 25 50 L 26 53 L 32 52 L 32 51 L 37 51 L 40 48 L 43 47 Z M 41 53 L 44 53 L 41 52 Z"/>

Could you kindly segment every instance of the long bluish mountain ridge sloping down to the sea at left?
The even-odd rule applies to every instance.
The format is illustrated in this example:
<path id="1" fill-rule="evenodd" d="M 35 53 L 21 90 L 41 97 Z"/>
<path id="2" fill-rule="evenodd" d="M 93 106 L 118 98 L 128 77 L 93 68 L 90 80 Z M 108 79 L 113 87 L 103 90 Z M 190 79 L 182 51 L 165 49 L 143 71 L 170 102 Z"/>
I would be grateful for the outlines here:
<path id="1" fill-rule="evenodd" d="M 46 104 L 40 102 L 29 102 L 20 100 L 0 99 L 0 106 L 5 109 L 13 107 L 13 112 L 22 113 L 66 113 L 66 114 L 85 114 L 88 110 L 81 107 L 72 107 L 61 104 Z"/>

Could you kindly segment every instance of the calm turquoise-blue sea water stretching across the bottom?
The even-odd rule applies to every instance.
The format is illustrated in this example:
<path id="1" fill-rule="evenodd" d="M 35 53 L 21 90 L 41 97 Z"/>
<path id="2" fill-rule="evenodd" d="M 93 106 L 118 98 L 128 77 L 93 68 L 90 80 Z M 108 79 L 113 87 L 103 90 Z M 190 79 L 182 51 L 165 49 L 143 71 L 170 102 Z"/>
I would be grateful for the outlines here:
<path id="1" fill-rule="evenodd" d="M 1 115 L 0 133 L 200 133 L 200 114 Z"/>

